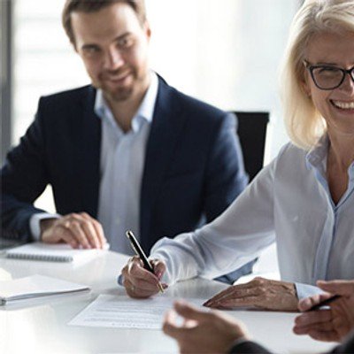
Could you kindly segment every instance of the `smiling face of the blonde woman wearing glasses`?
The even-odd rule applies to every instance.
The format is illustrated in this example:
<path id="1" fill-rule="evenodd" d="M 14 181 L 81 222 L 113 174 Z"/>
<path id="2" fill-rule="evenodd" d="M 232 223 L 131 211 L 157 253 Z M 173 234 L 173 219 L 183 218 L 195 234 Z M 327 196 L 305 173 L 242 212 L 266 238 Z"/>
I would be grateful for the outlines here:
<path id="1" fill-rule="evenodd" d="M 330 81 L 333 76 L 331 66 L 348 70 L 354 66 L 354 34 L 324 33 L 314 35 L 305 54 L 306 62 L 311 65 L 326 65 L 316 69 L 320 83 Z M 354 75 L 354 71 L 351 72 Z M 339 72 L 339 76 L 341 73 Z M 335 80 L 335 79 L 334 79 Z M 349 73 L 345 74 L 342 84 L 336 89 L 319 89 L 309 70 L 305 73 L 304 89 L 312 97 L 312 102 L 327 121 L 328 133 L 338 137 L 354 136 L 354 81 Z"/>

